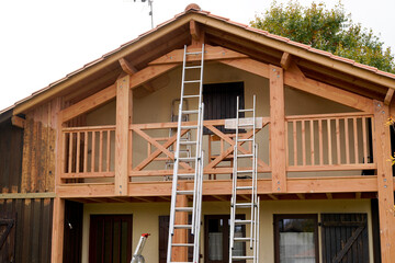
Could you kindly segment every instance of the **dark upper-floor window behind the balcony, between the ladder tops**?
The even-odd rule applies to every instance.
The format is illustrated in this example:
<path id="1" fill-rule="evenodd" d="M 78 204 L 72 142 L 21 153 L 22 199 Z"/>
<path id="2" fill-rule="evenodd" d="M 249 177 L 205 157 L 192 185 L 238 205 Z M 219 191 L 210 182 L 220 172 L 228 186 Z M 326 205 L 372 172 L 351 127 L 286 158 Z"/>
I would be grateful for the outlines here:
<path id="1" fill-rule="evenodd" d="M 239 107 L 244 108 L 244 82 L 204 84 L 204 119 L 235 118 L 237 96 L 239 96 Z M 240 117 L 244 117 L 244 113 L 240 114 Z M 224 133 L 234 133 L 223 126 L 217 128 Z M 211 133 L 205 129 L 204 134 Z"/>

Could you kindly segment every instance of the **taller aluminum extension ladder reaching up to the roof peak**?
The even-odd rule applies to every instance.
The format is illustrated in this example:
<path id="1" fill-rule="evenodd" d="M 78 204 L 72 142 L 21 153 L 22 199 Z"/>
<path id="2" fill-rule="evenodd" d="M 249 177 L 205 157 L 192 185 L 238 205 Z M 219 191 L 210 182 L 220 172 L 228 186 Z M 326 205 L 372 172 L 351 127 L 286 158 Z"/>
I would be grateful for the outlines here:
<path id="1" fill-rule="evenodd" d="M 189 56 L 201 56 L 200 64 L 189 62 Z M 193 263 L 199 262 L 200 258 L 200 227 L 201 227 L 201 208 L 202 208 L 202 183 L 203 183 L 203 151 L 202 151 L 202 137 L 203 137 L 203 111 L 204 105 L 202 102 L 203 90 L 203 62 L 204 62 L 204 44 L 201 52 L 189 53 L 187 45 L 184 46 L 183 64 L 182 64 L 182 82 L 181 82 L 181 96 L 179 104 L 178 127 L 177 127 L 177 146 L 174 153 L 172 191 L 171 191 L 171 207 L 170 207 L 170 224 L 169 224 L 169 241 L 167 263 L 177 262 L 172 256 L 172 249 L 176 247 L 193 248 Z M 200 72 L 198 72 L 200 70 Z M 193 76 L 199 73 L 199 79 Z M 198 92 L 195 90 L 199 90 Z M 190 105 L 198 105 L 195 110 L 184 110 L 182 107 L 185 100 L 190 100 Z M 191 106 L 193 107 L 193 106 Z M 198 125 L 187 126 L 182 123 L 182 116 L 189 115 L 196 116 Z M 181 134 L 182 130 L 191 130 L 190 140 L 187 140 Z M 193 133 L 195 132 L 195 133 Z M 195 155 L 191 157 L 180 157 L 180 146 L 191 146 L 195 149 Z M 192 150 L 193 151 L 193 150 Z M 193 152 L 192 152 L 193 153 Z M 190 173 L 179 173 L 180 163 L 185 163 L 194 168 Z M 179 180 L 189 180 L 193 182 L 194 187 L 191 191 L 179 188 Z M 193 198 L 192 206 L 179 207 L 177 205 L 177 197 L 187 195 Z M 188 213 L 191 215 L 191 224 L 176 225 L 176 215 L 178 213 Z M 174 243 L 173 236 L 174 229 L 187 229 L 193 236 L 193 243 Z M 185 263 L 185 262 L 183 262 Z"/>

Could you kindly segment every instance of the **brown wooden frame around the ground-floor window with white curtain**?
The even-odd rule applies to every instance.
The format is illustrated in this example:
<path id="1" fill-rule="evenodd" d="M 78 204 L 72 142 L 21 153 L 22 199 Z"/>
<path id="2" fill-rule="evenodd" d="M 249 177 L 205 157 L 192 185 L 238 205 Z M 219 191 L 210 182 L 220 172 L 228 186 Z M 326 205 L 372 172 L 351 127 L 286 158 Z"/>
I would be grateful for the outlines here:
<path id="1" fill-rule="evenodd" d="M 318 239 L 318 214 L 274 214 L 273 215 L 273 230 L 274 230 L 274 262 L 280 263 L 280 229 L 279 220 L 281 219 L 314 219 L 314 243 L 315 243 L 315 259 L 319 263 L 319 239 Z"/>

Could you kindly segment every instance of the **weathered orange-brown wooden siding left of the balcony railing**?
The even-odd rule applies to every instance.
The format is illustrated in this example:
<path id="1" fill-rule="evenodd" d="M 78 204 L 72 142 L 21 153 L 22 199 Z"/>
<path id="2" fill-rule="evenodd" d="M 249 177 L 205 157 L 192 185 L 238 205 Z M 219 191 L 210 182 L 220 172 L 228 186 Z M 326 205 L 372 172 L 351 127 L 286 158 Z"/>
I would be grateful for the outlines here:
<path id="1" fill-rule="evenodd" d="M 56 125 L 60 108 L 54 100 L 26 114 L 22 164 L 22 193 L 54 192 Z"/>

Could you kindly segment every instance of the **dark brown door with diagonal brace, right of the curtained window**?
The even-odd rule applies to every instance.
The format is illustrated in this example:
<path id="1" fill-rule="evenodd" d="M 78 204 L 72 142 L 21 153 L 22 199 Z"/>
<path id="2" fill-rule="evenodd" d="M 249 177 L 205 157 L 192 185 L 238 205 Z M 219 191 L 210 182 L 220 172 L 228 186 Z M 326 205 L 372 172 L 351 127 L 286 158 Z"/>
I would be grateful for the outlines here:
<path id="1" fill-rule="evenodd" d="M 366 222 L 366 214 L 321 214 L 324 263 L 368 263 Z"/>

